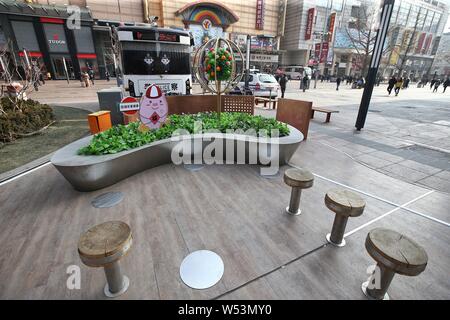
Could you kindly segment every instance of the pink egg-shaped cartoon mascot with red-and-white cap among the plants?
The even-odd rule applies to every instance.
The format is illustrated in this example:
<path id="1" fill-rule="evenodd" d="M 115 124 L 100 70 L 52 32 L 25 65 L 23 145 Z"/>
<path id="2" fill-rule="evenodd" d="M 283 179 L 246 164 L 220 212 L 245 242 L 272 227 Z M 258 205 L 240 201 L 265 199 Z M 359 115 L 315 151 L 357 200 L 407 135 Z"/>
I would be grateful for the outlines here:
<path id="1" fill-rule="evenodd" d="M 149 129 L 158 129 L 167 118 L 169 108 L 161 89 L 152 84 L 141 98 L 139 117 Z"/>

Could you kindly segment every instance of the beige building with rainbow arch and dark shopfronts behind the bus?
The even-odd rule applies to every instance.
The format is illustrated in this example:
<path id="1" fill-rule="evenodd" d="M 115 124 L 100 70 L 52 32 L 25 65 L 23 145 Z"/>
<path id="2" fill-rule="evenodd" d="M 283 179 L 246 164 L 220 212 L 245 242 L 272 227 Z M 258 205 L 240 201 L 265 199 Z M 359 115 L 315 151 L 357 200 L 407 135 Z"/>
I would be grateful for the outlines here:
<path id="1" fill-rule="evenodd" d="M 65 79 L 94 69 L 97 77 L 114 73 L 110 26 L 148 23 L 189 30 L 195 47 L 221 36 L 245 52 L 251 37 L 250 63 L 273 71 L 279 64 L 287 0 L 29 0 L 0 1 L 0 41 L 11 39 L 14 54 L 25 48 L 52 75 Z M 81 28 L 70 28 L 70 8 L 81 12 Z M 153 20 L 152 20 L 153 21 Z M 1 45 L 1 43 L 0 43 Z"/>

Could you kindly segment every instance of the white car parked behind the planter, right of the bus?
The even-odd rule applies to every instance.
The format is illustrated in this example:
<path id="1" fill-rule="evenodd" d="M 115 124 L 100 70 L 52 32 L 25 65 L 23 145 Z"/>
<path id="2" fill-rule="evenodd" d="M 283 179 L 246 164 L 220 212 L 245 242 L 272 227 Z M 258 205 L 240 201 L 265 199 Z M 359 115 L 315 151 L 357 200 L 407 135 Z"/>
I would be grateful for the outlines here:
<path id="1" fill-rule="evenodd" d="M 276 98 L 280 90 L 275 77 L 267 73 L 253 73 L 249 75 L 248 86 L 255 97 Z M 242 94 L 245 88 L 244 78 L 230 94 Z"/>

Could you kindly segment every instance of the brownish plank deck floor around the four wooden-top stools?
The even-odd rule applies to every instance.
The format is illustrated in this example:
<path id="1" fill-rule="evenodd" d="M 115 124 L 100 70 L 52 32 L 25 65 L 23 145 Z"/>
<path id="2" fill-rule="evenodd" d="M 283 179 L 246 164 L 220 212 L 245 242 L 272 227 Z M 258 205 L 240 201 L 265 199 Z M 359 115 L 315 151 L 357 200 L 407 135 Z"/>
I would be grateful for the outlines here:
<path id="1" fill-rule="evenodd" d="M 131 284 L 120 299 L 364 299 L 360 285 L 373 264 L 364 240 L 376 226 L 415 238 L 430 258 L 420 276 L 394 278 L 392 298 L 450 298 L 450 229 L 431 220 L 450 221 L 450 197 L 387 177 L 313 140 L 291 162 L 317 175 L 297 217 L 284 213 L 290 189 L 282 175 L 262 178 L 255 166 L 191 172 L 165 165 L 80 193 L 48 165 L 0 186 L 0 298 L 105 299 L 103 271 L 82 265 L 77 242 L 89 227 L 114 219 L 127 222 L 134 236 L 122 260 Z M 326 245 L 334 216 L 323 198 L 342 185 L 360 190 L 367 208 L 349 221 L 347 246 L 336 249 Z M 123 192 L 124 200 L 92 207 L 107 191 Z M 225 264 L 222 280 L 207 290 L 190 289 L 179 277 L 183 258 L 199 249 L 216 251 Z M 66 287 L 70 265 L 81 268 L 80 290 Z"/>

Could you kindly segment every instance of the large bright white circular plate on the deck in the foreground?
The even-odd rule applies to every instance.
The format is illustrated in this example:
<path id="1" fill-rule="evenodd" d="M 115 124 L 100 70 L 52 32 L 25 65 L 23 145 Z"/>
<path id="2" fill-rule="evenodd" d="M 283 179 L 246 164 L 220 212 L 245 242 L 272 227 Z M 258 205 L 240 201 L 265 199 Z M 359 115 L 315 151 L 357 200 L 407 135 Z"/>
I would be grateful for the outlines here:
<path id="1" fill-rule="evenodd" d="M 180 277 L 192 289 L 207 289 L 220 281 L 223 271 L 223 261 L 217 253 L 198 250 L 181 262 Z"/>

